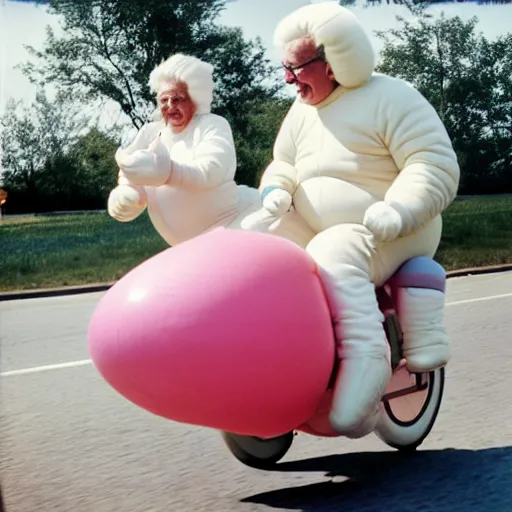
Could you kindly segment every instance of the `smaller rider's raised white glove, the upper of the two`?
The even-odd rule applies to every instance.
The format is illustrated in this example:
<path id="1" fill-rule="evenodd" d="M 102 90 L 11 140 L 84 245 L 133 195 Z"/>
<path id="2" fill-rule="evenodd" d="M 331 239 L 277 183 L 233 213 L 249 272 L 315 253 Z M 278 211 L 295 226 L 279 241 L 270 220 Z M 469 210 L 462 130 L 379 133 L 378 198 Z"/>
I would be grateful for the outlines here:
<path id="1" fill-rule="evenodd" d="M 160 136 L 148 149 L 138 149 L 131 154 L 119 148 L 116 162 L 132 185 L 158 187 L 168 181 L 172 172 L 171 157 Z"/>

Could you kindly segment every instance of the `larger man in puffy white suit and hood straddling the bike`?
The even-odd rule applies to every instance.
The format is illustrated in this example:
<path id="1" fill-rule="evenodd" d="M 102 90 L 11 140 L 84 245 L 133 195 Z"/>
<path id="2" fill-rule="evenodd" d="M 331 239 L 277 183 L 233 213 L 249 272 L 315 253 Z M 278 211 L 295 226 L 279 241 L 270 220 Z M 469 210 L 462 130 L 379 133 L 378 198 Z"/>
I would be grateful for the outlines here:
<path id="1" fill-rule="evenodd" d="M 342 359 L 330 421 L 361 437 L 376 425 L 391 375 L 375 285 L 406 260 L 434 255 L 459 166 L 425 98 L 374 73 L 370 40 L 349 10 L 305 6 L 278 25 L 275 39 L 297 98 L 262 177 L 263 211 L 279 219 L 271 233 L 282 222 L 308 232 L 299 243 L 318 264 Z M 243 227 L 264 231 L 261 215 Z M 402 289 L 398 299 L 409 369 L 445 365 L 444 295 Z"/>

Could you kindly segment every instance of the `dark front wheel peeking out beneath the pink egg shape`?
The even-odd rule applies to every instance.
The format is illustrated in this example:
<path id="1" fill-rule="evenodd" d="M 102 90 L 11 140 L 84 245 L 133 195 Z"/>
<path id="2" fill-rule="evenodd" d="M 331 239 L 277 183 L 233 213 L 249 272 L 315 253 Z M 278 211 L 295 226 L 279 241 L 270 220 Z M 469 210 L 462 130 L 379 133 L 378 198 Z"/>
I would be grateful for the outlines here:
<path id="1" fill-rule="evenodd" d="M 222 432 L 229 451 L 242 464 L 255 469 L 271 469 L 286 455 L 293 437 L 293 432 L 271 439 Z"/>

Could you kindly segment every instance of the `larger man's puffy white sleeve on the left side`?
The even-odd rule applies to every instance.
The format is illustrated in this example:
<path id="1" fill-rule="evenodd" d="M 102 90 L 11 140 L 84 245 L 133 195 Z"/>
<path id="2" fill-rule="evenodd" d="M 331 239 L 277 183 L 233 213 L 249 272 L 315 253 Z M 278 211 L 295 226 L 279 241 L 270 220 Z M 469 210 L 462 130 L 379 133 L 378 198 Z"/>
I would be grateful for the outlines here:
<path id="1" fill-rule="evenodd" d="M 273 160 L 265 169 L 259 189 L 282 188 L 293 195 L 297 188 L 295 157 L 295 130 L 297 128 L 297 108 L 294 103 L 286 114 L 274 143 Z"/>

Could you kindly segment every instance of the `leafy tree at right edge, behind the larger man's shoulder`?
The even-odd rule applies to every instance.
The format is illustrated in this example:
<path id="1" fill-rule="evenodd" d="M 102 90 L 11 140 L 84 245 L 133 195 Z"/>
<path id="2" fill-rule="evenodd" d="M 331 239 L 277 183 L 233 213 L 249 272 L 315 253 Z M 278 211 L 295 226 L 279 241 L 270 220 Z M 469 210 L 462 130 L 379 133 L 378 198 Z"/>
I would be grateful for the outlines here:
<path id="1" fill-rule="evenodd" d="M 425 14 L 377 32 L 377 70 L 412 83 L 444 122 L 462 169 L 462 193 L 512 190 L 512 34 L 488 41 L 477 18 Z"/>

